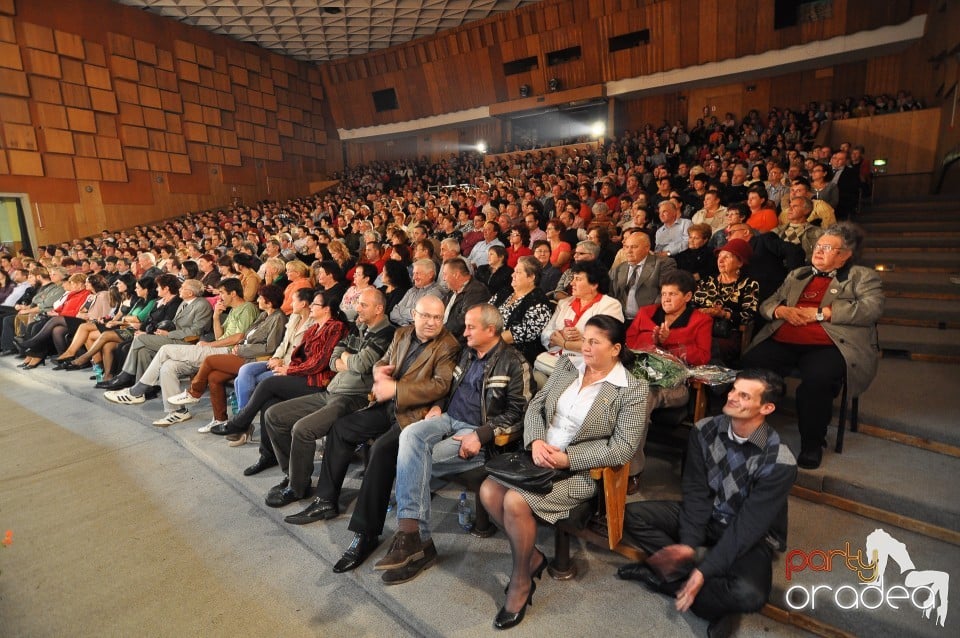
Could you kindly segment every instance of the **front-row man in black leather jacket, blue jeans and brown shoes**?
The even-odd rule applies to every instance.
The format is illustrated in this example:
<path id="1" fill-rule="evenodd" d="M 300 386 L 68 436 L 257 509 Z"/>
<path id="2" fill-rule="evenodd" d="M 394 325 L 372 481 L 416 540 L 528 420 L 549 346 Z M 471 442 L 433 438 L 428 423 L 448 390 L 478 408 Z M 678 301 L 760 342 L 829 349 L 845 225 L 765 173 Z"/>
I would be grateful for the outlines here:
<path id="1" fill-rule="evenodd" d="M 422 421 L 400 433 L 398 531 L 387 555 L 375 566 L 386 570 L 387 585 L 412 580 L 437 558 L 430 538 L 431 476 L 483 465 L 483 446 L 497 431 L 519 427 L 530 401 L 530 365 L 500 339 L 503 319 L 496 307 L 487 303 L 471 307 L 464 326 L 467 347 L 453 372 L 450 394 Z"/>

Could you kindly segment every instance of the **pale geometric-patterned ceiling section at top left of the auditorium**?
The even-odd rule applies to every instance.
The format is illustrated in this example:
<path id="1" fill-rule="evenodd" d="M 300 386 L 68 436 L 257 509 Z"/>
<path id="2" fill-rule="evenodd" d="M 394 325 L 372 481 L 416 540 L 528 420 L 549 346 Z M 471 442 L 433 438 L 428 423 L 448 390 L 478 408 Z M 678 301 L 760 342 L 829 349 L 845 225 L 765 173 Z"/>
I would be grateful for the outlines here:
<path id="1" fill-rule="evenodd" d="M 536 0 L 115 0 L 298 60 L 385 49 Z"/>

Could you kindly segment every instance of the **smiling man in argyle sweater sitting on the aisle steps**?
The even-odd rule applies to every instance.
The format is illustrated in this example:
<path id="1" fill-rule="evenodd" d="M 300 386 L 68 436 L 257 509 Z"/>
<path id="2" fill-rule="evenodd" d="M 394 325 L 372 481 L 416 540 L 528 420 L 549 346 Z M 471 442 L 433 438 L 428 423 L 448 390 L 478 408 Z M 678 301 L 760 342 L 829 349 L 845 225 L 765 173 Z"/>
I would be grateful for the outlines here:
<path id="1" fill-rule="evenodd" d="M 729 636 L 739 614 L 763 607 L 774 552 L 786 546 L 787 497 L 797 466 L 766 422 L 783 393 L 774 372 L 740 372 L 723 414 L 690 433 L 683 501 L 626 509 L 624 537 L 650 557 L 617 575 L 675 596 L 678 611 L 692 609 L 710 621 L 711 637 Z"/>

